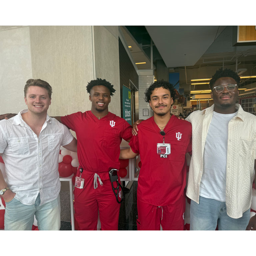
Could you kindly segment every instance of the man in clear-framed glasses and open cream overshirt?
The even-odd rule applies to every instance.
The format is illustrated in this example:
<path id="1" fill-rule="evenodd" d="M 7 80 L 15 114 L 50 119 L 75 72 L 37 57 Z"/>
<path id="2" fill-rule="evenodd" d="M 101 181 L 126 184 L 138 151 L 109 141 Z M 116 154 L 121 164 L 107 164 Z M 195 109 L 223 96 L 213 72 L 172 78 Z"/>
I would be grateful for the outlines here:
<path id="1" fill-rule="evenodd" d="M 239 83 L 234 71 L 219 69 L 209 84 L 214 104 L 186 119 L 193 131 L 190 230 L 256 230 L 256 216 L 250 219 L 256 117 L 236 104 Z"/>

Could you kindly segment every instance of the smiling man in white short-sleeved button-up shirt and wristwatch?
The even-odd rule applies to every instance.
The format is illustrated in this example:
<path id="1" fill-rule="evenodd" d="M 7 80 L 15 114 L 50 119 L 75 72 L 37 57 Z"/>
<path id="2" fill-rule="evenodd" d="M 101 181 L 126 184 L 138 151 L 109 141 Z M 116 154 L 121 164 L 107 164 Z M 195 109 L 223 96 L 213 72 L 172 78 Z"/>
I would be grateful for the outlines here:
<path id="1" fill-rule="evenodd" d="M 47 115 L 51 86 L 29 79 L 24 88 L 28 109 L 0 121 L 0 195 L 6 203 L 5 230 L 31 230 L 36 216 L 39 230 L 60 229 L 60 146 L 77 151 L 66 126 Z"/>

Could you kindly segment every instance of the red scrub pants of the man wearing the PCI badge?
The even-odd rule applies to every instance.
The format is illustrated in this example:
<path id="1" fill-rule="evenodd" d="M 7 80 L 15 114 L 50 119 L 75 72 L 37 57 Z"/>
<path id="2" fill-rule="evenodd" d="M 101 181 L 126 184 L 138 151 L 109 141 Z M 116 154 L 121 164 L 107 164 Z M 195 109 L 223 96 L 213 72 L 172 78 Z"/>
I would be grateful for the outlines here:
<path id="1" fill-rule="evenodd" d="M 184 212 L 185 196 L 182 195 L 175 204 L 156 206 L 147 204 L 137 198 L 138 230 L 185 230 Z"/>

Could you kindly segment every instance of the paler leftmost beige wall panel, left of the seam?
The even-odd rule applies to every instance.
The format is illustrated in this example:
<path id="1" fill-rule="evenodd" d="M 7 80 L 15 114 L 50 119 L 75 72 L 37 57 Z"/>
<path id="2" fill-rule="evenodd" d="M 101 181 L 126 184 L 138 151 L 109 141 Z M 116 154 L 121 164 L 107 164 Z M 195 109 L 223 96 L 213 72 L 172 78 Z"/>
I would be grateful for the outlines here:
<path id="1" fill-rule="evenodd" d="M 24 85 L 32 77 L 29 27 L 0 27 L 0 114 L 26 108 Z"/>

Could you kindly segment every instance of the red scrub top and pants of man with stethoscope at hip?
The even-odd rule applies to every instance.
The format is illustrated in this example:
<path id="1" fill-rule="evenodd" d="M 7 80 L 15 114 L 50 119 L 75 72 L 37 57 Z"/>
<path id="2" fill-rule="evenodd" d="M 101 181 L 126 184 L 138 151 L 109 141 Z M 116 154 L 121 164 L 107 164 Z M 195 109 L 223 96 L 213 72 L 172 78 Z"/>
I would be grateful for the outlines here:
<path id="1" fill-rule="evenodd" d="M 120 204 L 108 172 L 120 167 L 120 143 L 132 137 L 131 125 L 110 112 L 99 120 L 91 111 L 61 117 L 61 122 L 76 132 L 79 168 L 83 168 L 84 188 L 74 189 L 79 230 L 97 230 L 98 209 L 101 229 L 117 230 Z"/>

